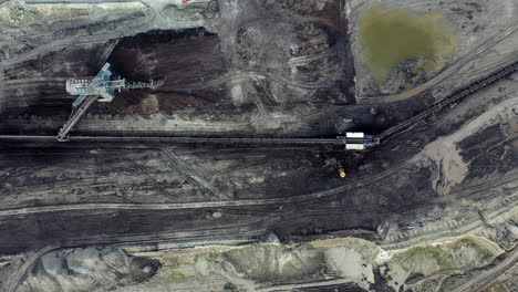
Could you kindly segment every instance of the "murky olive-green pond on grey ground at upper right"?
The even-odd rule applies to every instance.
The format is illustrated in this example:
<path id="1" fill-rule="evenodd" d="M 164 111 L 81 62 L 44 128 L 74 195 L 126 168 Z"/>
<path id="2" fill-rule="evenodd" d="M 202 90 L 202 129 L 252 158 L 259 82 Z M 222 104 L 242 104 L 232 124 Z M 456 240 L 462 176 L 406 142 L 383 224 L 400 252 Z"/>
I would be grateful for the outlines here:
<path id="1" fill-rule="evenodd" d="M 401 62 L 417 60 L 413 71 L 432 73 L 444 66 L 456 38 L 442 25 L 443 15 L 415 17 L 405 10 L 372 8 L 360 17 L 363 58 L 379 82 Z"/>

